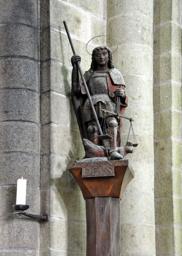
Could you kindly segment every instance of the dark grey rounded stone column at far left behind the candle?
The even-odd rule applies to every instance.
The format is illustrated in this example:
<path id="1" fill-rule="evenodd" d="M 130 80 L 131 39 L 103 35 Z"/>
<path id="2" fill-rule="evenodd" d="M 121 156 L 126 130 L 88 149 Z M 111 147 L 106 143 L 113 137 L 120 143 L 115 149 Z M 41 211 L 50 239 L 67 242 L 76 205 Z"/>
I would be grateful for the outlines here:
<path id="1" fill-rule="evenodd" d="M 39 214 L 39 3 L 0 3 L 0 255 L 39 255 L 39 222 L 13 216 L 18 178 Z"/>

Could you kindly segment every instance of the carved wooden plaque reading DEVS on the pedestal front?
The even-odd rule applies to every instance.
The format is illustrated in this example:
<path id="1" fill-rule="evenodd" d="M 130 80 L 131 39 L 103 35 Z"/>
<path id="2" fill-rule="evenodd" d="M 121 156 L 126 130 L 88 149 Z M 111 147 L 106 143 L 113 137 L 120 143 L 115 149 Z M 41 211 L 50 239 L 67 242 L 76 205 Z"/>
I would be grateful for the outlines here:
<path id="1" fill-rule="evenodd" d="M 113 162 L 115 161 L 88 162 L 86 166 L 82 166 L 82 178 L 115 176 Z"/>

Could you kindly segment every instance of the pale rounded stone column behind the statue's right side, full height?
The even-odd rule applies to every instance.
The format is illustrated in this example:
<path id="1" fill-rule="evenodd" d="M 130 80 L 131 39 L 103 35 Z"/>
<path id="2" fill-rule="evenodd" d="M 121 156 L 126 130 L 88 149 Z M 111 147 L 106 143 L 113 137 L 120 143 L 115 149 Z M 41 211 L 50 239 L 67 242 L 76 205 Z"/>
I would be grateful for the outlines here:
<path id="1" fill-rule="evenodd" d="M 113 8 L 115 4 L 115 8 Z M 115 67 L 126 84 L 139 145 L 128 154 L 135 177 L 121 200 L 121 255 L 155 255 L 153 155 L 153 0 L 108 1 L 108 35 L 117 38 Z M 129 121 L 123 120 L 125 145 Z M 130 134 L 129 140 L 133 140 Z"/>

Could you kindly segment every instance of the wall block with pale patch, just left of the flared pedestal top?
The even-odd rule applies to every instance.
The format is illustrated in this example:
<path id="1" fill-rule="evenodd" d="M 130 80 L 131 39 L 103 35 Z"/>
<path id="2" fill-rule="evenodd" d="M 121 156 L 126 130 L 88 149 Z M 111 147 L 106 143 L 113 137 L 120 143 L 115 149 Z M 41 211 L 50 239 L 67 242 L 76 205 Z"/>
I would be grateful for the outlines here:
<path id="1" fill-rule="evenodd" d="M 80 191 L 75 179 L 67 169 L 74 159 L 63 156 L 41 157 L 41 186 L 55 186 L 69 191 Z"/>

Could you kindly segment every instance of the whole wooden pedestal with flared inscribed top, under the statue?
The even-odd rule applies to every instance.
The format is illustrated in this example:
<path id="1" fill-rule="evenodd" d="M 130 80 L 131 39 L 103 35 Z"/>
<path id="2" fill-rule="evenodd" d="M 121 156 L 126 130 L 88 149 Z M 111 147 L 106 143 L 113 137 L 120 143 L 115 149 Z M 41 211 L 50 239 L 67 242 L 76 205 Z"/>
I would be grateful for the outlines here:
<path id="1" fill-rule="evenodd" d="M 71 163 L 68 170 L 86 200 L 86 256 L 120 256 L 119 200 L 134 177 L 128 160 Z"/>

